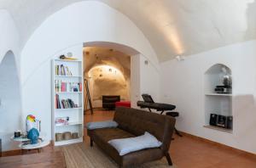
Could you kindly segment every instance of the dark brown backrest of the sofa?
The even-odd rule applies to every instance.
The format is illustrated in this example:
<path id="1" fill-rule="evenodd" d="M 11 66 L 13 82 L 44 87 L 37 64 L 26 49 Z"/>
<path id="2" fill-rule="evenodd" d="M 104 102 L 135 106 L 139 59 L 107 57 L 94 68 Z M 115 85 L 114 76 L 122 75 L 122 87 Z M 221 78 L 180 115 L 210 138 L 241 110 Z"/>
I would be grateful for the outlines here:
<path id="1" fill-rule="evenodd" d="M 141 109 L 118 107 L 113 120 L 119 123 L 120 129 L 136 136 L 143 135 L 144 132 L 151 133 L 163 143 L 161 148 L 168 151 L 175 126 L 174 118 Z"/>

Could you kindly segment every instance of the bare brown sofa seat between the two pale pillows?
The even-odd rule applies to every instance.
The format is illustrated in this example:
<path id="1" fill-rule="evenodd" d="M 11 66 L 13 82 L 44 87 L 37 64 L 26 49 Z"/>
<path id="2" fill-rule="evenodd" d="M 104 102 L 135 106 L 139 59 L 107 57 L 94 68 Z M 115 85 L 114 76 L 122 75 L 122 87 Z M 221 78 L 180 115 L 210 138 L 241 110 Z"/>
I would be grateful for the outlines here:
<path id="1" fill-rule="evenodd" d="M 126 137 L 135 137 L 129 132 L 125 132 L 119 128 L 102 128 L 93 130 L 94 135 L 100 138 L 104 143 L 112 139 L 126 138 Z"/>

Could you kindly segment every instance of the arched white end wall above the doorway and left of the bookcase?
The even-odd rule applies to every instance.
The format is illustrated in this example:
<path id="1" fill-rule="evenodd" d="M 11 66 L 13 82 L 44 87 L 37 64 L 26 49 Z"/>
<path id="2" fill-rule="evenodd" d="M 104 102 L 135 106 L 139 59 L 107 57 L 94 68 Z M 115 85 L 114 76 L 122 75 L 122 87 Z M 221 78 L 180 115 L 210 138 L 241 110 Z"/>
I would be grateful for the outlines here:
<path id="1" fill-rule="evenodd" d="M 50 59 L 63 49 L 96 41 L 134 48 L 158 68 L 154 50 L 143 33 L 125 15 L 104 3 L 74 3 L 51 15 L 34 32 L 21 53 L 23 113 L 25 116 L 33 112 L 39 116 L 49 138 Z M 83 52 L 82 48 L 80 51 Z M 158 86 L 158 82 L 151 81 L 146 87 Z"/>

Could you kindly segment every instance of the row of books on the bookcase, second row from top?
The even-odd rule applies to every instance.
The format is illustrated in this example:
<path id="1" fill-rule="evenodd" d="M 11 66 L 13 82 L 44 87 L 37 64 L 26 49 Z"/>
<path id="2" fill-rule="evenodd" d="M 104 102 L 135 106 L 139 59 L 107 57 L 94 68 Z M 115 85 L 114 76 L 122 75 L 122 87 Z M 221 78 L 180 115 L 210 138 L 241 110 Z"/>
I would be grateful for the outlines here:
<path id="1" fill-rule="evenodd" d="M 82 92 L 82 83 L 55 80 L 55 92 Z"/>

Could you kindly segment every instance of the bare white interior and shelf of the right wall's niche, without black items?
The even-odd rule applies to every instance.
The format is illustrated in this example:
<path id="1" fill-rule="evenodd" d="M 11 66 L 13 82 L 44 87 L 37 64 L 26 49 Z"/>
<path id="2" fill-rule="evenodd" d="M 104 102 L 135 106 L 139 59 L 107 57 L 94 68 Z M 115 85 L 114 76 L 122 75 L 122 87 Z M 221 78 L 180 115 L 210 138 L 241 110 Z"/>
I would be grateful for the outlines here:
<path id="1" fill-rule="evenodd" d="M 204 92 L 205 92 L 205 128 L 213 129 L 220 132 L 232 133 L 231 129 L 221 128 L 218 126 L 210 126 L 210 115 L 225 115 L 232 116 L 232 102 L 233 94 L 230 93 L 216 93 L 214 88 L 223 85 L 221 78 L 224 76 L 223 68 L 231 76 L 232 71 L 224 64 L 214 64 L 209 68 L 204 75 Z"/>

